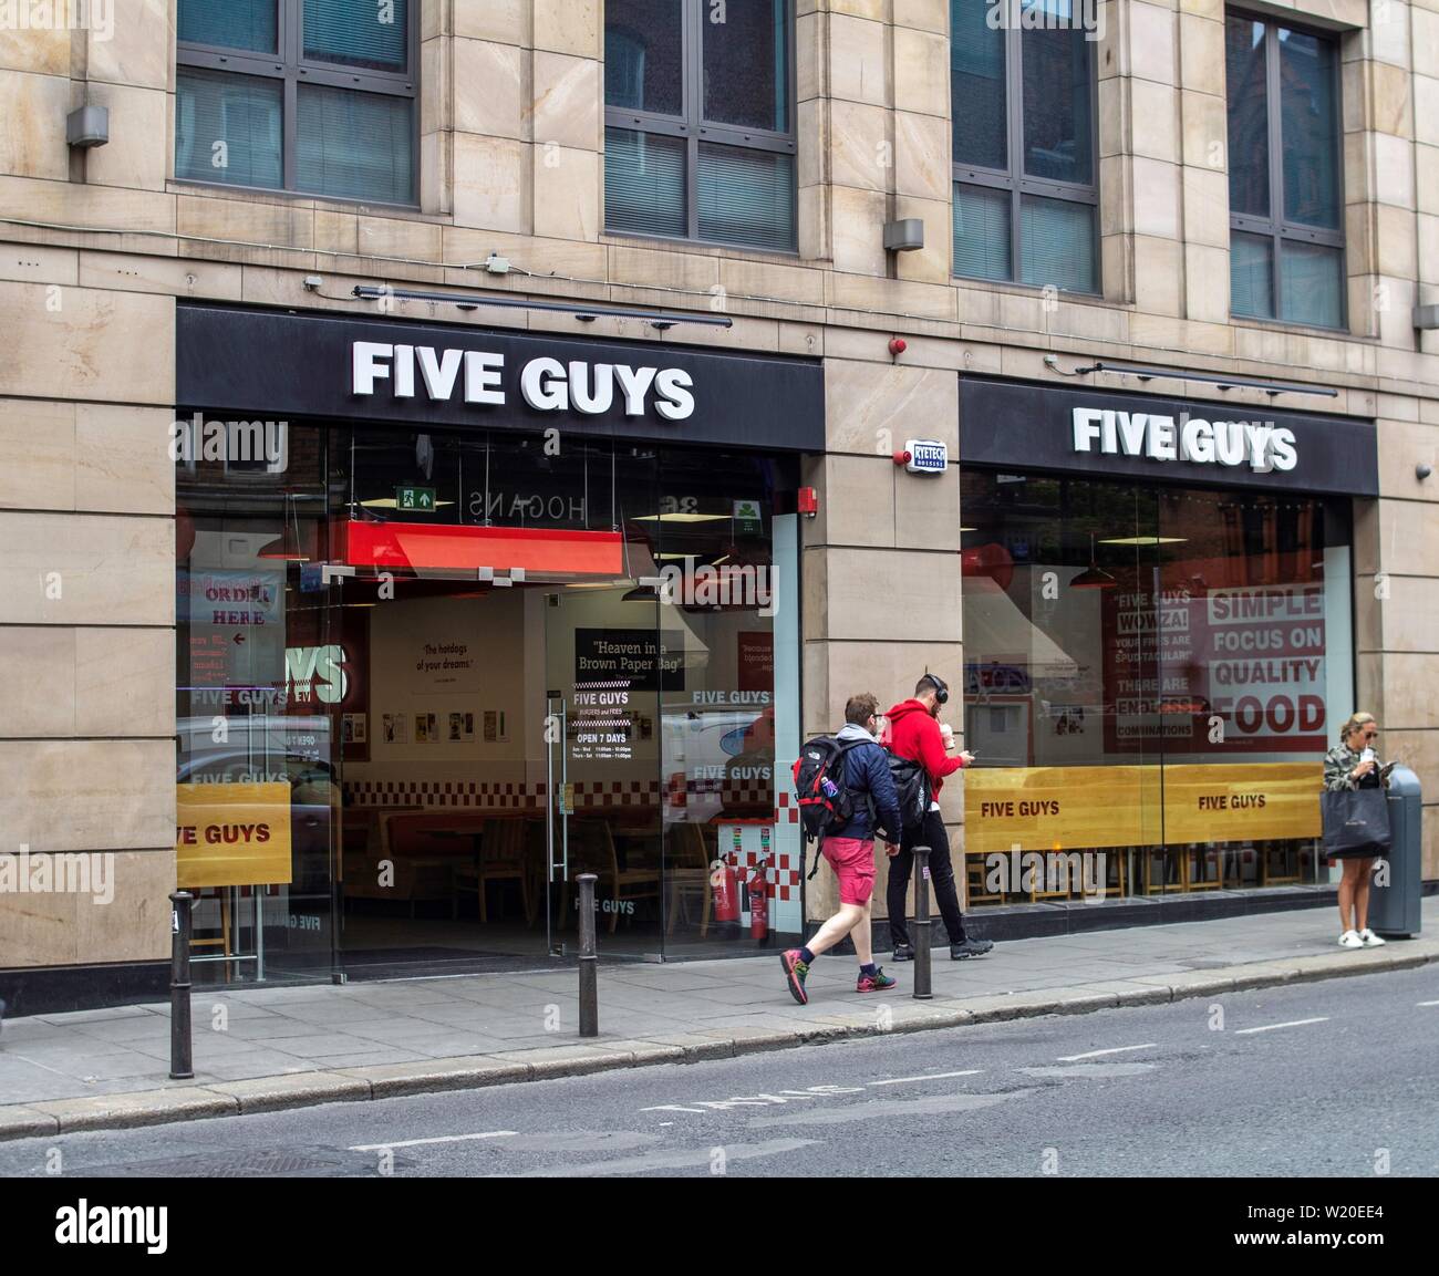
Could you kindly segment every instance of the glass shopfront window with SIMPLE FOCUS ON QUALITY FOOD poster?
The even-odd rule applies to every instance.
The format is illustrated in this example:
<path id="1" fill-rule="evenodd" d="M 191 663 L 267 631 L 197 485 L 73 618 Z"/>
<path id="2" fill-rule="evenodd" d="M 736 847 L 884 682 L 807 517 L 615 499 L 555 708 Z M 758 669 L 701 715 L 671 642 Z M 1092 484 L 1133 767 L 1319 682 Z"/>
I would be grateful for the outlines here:
<path id="1" fill-rule="evenodd" d="M 971 905 L 1327 880 L 1348 502 L 970 468 L 961 511 Z"/>

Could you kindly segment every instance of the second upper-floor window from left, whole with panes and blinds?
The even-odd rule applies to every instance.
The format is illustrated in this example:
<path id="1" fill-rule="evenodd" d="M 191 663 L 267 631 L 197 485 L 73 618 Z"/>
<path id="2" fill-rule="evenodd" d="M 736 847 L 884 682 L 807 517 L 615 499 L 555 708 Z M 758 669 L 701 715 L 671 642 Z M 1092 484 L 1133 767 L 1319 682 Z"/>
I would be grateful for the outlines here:
<path id="1" fill-rule="evenodd" d="M 604 226 L 793 252 L 793 0 L 606 0 Z"/>

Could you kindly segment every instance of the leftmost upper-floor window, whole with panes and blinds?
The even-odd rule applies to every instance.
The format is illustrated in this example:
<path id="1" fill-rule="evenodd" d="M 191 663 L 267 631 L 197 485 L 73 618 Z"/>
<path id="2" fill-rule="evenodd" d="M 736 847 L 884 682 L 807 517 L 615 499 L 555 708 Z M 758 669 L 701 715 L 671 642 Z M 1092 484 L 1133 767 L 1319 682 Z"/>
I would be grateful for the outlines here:
<path id="1" fill-rule="evenodd" d="M 414 201 L 416 0 L 180 0 L 176 177 Z"/>

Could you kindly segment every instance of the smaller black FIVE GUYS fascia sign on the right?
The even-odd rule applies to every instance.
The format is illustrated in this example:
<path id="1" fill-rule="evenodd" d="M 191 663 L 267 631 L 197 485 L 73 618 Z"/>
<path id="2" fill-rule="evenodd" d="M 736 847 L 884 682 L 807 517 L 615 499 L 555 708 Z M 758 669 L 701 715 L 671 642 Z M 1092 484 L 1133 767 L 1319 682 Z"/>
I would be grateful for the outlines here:
<path id="1" fill-rule="evenodd" d="M 960 460 L 1156 483 L 1379 495 L 1373 421 L 960 378 Z"/>

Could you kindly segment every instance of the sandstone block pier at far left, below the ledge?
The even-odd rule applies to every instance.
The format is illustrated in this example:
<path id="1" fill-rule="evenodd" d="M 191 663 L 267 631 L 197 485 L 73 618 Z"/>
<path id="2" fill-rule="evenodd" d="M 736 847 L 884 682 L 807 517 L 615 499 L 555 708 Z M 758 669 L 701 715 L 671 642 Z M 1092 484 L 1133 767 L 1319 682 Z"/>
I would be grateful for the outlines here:
<path id="1" fill-rule="evenodd" d="M 50 883 L 0 893 L 0 967 L 158 960 L 176 880 L 174 301 L 79 256 L 0 282 L 0 853 Z"/>

